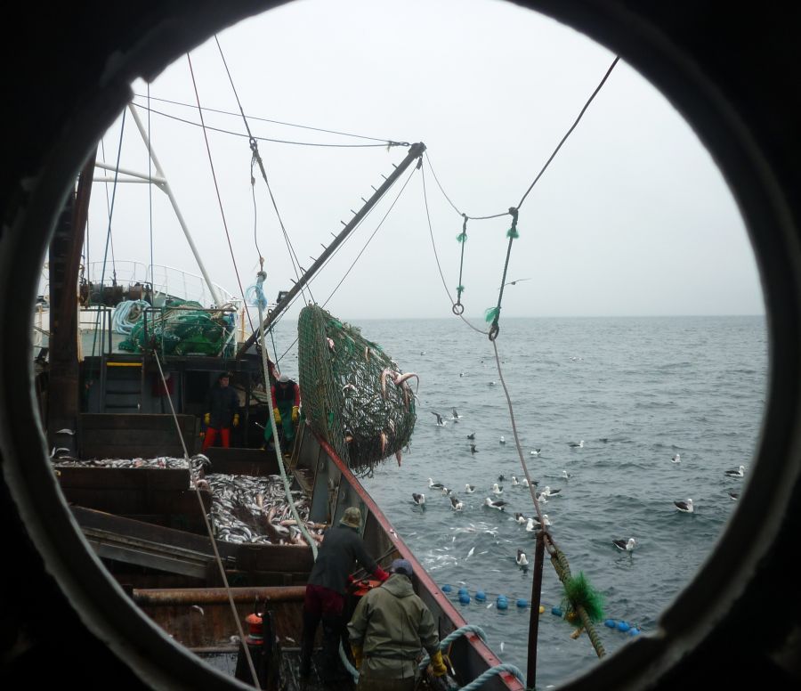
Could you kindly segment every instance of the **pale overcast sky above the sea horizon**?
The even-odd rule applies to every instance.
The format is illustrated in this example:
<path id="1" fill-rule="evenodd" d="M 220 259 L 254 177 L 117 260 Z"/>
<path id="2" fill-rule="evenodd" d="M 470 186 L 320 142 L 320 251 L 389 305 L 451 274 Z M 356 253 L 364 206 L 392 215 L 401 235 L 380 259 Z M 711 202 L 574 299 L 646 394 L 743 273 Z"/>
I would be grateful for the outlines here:
<path id="1" fill-rule="evenodd" d="M 426 197 L 454 297 L 462 218 L 440 191 L 432 167 L 458 212 L 493 215 L 516 206 L 615 57 L 572 28 L 501 0 L 300 0 L 217 38 L 222 56 L 213 38 L 190 53 L 191 72 L 184 57 L 150 85 L 152 110 L 198 123 L 197 87 L 204 108 L 238 113 L 224 57 L 257 137 L 376 143 L 257 119 L 268 118 L 425 142 L 423 169 L 411 175 L 328 302 L 332 313 L 348 320 L 450 316 Z M 134 92 L 145 96 L 147 86 L 138 82 Z M 147 104 L 145 98 L 136 102 Z M 148 113 L 140 112 L 147 126 Z M 257 243 L 266 260 L 268 297 L 274 299 L 279 289 L 291 288 L 295 273 L 257 170 L 255 212 L 243 119 L 204 114 L 206 126 L 236 133 L 207 132 L 221 211 L 202 130 L 174 118 L 151 112 L 152 146 L 206 269 L 239 293 L 224 214 L 244 288 L 255 282 Z M 109 163 L 117 157 L 119 131 L 117 123 L 103 139 L 100 158 Z M 407 151 L 264 141 L 259 150 L 304 267 Z M 147 170 L 130 116 L 121 165 Z M 400 190 L 396 184 L 313 280 L 318 303 L 328 300 Z M 95 186 L 91 261 L 103 257 L 106 203 Z M 153 191 L 152 219 L 155 263 L 199 273 L 160 191 Z M 120 186 L 111 225 L 117 261 L 150 261 L 145 185 Z M 468 223 L 466 316 L 481 319 L 497 303 L 508 228 L 508 216 Z M 530 280 L 507 287 L 504 316 L 764 313 L 748 236 L 722 175 L 684 119 L 623 61 L 522 204 L 518 230 L 507 280 Z"/>

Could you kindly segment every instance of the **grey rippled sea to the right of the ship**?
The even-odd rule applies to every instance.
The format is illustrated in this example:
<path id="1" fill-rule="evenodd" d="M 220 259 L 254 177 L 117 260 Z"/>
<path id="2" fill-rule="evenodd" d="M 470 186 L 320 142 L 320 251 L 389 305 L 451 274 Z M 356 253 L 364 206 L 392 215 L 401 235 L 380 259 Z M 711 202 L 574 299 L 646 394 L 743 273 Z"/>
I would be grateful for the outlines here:
<path id="1" fill-rule="evenodd" d="M 605 617 L 640 636 L 654 631 L 737 509 L 728 492 L 748 483 L 765 409 L 765 318 L 502 318 L 500 373 L 488 338 L 456 317 L 355 323 L 420 378 L 417 426 L 402 466 L 389 459 L 362 483 L 501 660 L 525 675 L 532 610 L 516 601 L 530 601 L 532 572 L 515 557 L 522 549 L 533 564 L 534 548 L 533 533 L 513 518 L 515 511 L 530 516 L 533 502 L 511 485 L 522 465 L 501 373 L 530 475 L 539 489 L 562 490 L 542 510 L 572 573 L 583 572 L 603 594 Z M 583 448 L 570 447 L 581 440 Z M 672 462 L 676 453 L 680 463 Z M 724 475 L 740 465 L 744 478 Z M 509 502 L 503 513 L 483 505 L 499 475 L 506 477 L 500 498 Z M 429 477 L 453 489 L 461 512 L 429 489 Z M 476 491 L 466 493 L 465 484 Z M 412 492 L 425 493 L 425 508 Z M 687 498 L 693 514 L 674 505 Z M 629 537 L 631 553 L 612 544 Z M 469 603 L 459 603 L 459 588 Z M 485 602 L 475 599 L 479 589 Z M 498 609 L 498 594 L 508 609 Z M 571 639 L 574 627 L 551 614 L 562 585 L 549 561 L 541 601 L 537 686 L 545 688 L 591 670 L 598 658 L 586 635 Z M 608 654 L 633 639 L 603 622 L 598 631 Z"/>

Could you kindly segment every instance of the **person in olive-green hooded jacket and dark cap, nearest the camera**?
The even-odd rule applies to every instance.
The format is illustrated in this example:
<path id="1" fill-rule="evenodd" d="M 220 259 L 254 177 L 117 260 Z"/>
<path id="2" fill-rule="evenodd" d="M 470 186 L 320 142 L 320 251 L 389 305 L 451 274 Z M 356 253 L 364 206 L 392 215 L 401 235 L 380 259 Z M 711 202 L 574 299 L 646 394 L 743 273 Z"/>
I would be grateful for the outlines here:
<path id="1" fill-rule="evenodd" d="M 435 677 L 448 671 L 433 616 L 412 588 L 412 565 L 395 559 L 389 571 L 380 588 L 360 599 L 348 624 L 357 691 L 413 691 L 421 647 Z"/>

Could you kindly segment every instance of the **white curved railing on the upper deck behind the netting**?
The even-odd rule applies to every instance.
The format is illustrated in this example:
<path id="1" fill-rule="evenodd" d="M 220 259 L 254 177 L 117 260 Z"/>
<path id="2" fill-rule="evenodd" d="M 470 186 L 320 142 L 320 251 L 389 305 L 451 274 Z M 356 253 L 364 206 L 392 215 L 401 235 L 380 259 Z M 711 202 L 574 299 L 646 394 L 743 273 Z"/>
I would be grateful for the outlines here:
<path id="1" fill-rule="evenodd" d="M 173 266 L 153 264 L 152 274 L 150 264 L 134 261 L 116 261 L 114 264 L 103 262 L 89 262 L 85 265 L 84 280 L 95 285 L 108 285 L 112 280 L 116 282 L 145 286 L 152 285 L 155 301 L 158 297 L 177 297 L 181 300 L 198 302 L 200 305 L 214 305 L 214 297 L 208 289 L 206 280 L 196 273 L 176 269 Z M 242 298 L 236 297 L 222 286 L 214 283 L 214 290 L 224 305 L 233 305 L 237 309 L 242 306 Z M 220 306 L 220 305 L 218 305 Z"/>

